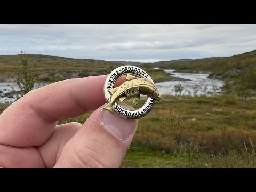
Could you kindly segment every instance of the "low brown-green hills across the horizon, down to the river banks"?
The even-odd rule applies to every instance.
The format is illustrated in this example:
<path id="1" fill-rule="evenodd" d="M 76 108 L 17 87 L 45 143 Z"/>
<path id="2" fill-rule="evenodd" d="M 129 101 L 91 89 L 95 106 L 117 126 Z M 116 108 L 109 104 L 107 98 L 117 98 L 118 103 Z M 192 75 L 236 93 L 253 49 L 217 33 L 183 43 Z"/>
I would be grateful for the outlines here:
<path id="1" fill-rule="evenodd" d="M 147 71 L 154 82 L 172 81 L 164 69 L 186 72 L 209 71 L 209 78 L 224 79 L 223 92 L 242 97 L 256 96 L 256 50 L 231 57 L 203 59 L 179 59 L 141 63 L 132 61 L 104 61 L 72 59 L 58 56 L 27 54 L 29 64 L 36 65 L 36 78 L 40 82 L 55 82 L 63 79 L 106 75 L 122 65 L 134 65 Z M 22 55 L 0 56 L 0 82 L 14 82 L 18 77 Z M 153 69 L 158 67 L 159 69 Z"/>

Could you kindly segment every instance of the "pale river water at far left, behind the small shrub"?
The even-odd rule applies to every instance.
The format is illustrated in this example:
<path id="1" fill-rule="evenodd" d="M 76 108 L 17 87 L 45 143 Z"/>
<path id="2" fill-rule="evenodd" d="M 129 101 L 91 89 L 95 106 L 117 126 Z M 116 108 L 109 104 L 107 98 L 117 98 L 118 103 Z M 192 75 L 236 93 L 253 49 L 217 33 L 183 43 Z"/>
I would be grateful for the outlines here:
<path id="1" fill-rule="evenodd" d="M 37 89 L 39 87 L 45 86 L 48 83 L 38 83 L 34 84 L 34 89 Z M 13 95 L 13 98 L 9 98 L 4 96 L 5 93 L 9 93 L 12 90 L 19 91 L 19 86 L 14 82 L 4 82 L 0 83 L 0 103 L 8 103 L 8 102 L 14 102 L 16 100 L 16 96 Z"/>

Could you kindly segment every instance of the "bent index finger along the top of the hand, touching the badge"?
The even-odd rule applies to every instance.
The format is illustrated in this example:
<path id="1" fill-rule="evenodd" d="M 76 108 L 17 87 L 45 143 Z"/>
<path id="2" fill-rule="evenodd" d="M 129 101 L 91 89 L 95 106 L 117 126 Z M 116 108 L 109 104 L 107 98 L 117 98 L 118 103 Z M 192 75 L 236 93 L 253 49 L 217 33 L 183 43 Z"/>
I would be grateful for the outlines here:
<path id="1" fill-rule="evenodd" d="M 30 91 L 0 115 L 0 143 L 42 145 L 59 119 L 75 117 L 105 103 L 105 76 L 68 79 Z"/>

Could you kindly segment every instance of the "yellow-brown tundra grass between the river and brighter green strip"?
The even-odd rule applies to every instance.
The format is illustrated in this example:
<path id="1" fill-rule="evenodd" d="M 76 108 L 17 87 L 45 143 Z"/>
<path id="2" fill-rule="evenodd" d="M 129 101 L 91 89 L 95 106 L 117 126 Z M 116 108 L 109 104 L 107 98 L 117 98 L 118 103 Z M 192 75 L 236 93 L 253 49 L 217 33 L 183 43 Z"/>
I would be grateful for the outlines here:
<path id="1" fill-rule="evenodd" d="M 165 98 L 165 97 L 163 97 Z M 167 152 L 188 150 L 228 154 L 256 141 L 256 99 L 166 97 L 140 119 L 133 142 Z M 142 102 L 142 101 L 140 101 Z"/>

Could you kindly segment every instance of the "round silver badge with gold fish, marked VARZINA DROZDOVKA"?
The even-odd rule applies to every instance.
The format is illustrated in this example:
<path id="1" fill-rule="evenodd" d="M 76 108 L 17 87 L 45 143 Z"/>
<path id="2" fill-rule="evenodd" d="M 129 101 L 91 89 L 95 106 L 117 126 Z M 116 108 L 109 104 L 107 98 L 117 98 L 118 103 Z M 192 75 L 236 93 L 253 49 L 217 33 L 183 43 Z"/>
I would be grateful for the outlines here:
<path id="1" fill-rule="evenodd" d="M 118 87 L 114 87 L 117 79 L 123 75 L 126 75 L 126 81 Z M 159 92 L 153 79 L 145 70 L 130 65 L 121 66 L 111 71 L 105 81 L 103 91 L 107 102 L 103 109 L 129 119 L 138 119 L 147 115 L 154 107 L 155 102 L 160 100 Z M 147 96 L 146 102 L 142 107 L 135 110 L 125 108 L 125 105 L 132 107 L 137 105 L 140 94 Z"/>

